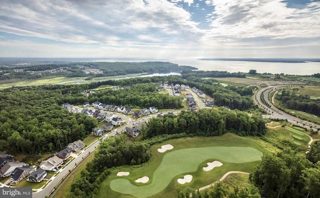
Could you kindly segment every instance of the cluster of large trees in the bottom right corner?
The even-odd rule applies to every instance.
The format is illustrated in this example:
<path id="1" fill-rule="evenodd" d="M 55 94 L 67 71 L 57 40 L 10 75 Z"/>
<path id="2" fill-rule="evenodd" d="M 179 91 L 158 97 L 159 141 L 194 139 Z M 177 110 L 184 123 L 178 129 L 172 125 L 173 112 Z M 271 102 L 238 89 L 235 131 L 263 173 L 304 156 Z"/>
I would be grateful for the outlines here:
<path id="1" fill-rule="evenodd" d="M 304 154 L 287 148 L 275 155 L 264 153 L 250 180 L 261 197 L 315 198 L 320 195 L 319 175 L 319 161 L 312 165 Z"/>

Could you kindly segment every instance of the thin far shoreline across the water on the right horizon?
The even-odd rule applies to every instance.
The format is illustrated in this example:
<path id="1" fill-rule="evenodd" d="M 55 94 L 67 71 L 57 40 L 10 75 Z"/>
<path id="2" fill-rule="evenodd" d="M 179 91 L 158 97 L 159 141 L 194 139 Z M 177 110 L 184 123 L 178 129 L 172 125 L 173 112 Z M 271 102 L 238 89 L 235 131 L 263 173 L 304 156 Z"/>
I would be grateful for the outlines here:
<path id="1" fill-rule="evenodd" d="M 320 62 L 319 58 L 198 58 L 198 60 L 248 61 L 248 62 L 285 62 L 285 63 Z"/>

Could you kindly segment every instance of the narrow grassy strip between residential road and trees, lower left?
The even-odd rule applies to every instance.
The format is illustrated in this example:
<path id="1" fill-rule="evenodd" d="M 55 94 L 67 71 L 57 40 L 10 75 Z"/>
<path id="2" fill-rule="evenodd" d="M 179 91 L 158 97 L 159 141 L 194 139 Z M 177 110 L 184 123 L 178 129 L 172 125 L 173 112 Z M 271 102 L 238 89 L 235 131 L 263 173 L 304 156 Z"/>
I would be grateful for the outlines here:
<path id="1" fill-rule="evenodd" d="M 85 165 L 88 161 L 91 161 L 93 159 L 94 155 L 92 154 L 88 158 L 86 158 L 79 166 L 78 169 L 68 177 L 68 179 L 63 183 L 63 185 L 60 187 L 60 189 L 54 194 L 53 198 L 67 198 L 69 197 L 69 192 L 71 189 L 71 183 L 73 179 L 79 178 L 80 171 L 85 168 Z"/>

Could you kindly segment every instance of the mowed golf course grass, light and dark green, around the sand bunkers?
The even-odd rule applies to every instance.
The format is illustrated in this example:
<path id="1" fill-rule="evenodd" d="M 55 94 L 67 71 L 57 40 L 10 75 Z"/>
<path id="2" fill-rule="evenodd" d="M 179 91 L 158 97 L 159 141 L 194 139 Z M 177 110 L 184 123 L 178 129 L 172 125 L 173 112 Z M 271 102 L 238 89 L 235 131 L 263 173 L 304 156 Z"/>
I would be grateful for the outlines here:
<path id="1" fill-rule="evenodd" d="M 174 148 L 160 153 L 157 151 L 157 148 L 160 148 L 163 144 L 171 144 Z M 228 148 L 224 146 L 238 146 L 242 148 Z M 241 152 L 241 149 L 245 151 Z M 255 139 L 226 133 L 219 137 L 172 139 L 151 146 L 151 151 L 153 160 L 148 165 L 137 169 L 131 166 L 125 166 L 112 171 L 111 175 L 101 183 L 98 197 L 132 196 L 111 190 L 111 182 L 113 183 L 111 183 L 112 189 L 120 192 L 124 192 L 123 190 L 136 190 L 136 192 L 132 194 L 137 197 L 174 197 L 176 196 L 177 188 L 184 188 L 186 186 L 198 188 L 213 183 L 227 171 L 252 171 L 253 167 L 259 164 L 262 152 L 266 150 L 261 147 Z M 251 155 L 251 157 L 253 156 L 253 158 L 244 156 L 246 155 L 245 153 Z M 199 159 L 195 160 L 197 158 Z M 192 162 L 192 160 L 194 162 Z M 207 166 L 206 162 L 213 160 L 221 161 L 223 165 L 215 167 L 208 172 L 203 171 L 202 167 Z M 237 163 L 235 163 L 235 161 Z M 116 176 L 118 171 L 129 171 L 130 174 L 128 176 L 122 176 L 120 177 L 121 179 L 118 180 L 119 176 Z M 177 178 L 183 178 L 185 174 L 192 174 L 192 181 L 183 185 L 177 183 Z M 148 176 L 150 180 L 145 184 L 134 182 L 135 179 L 142 176 Z"/>

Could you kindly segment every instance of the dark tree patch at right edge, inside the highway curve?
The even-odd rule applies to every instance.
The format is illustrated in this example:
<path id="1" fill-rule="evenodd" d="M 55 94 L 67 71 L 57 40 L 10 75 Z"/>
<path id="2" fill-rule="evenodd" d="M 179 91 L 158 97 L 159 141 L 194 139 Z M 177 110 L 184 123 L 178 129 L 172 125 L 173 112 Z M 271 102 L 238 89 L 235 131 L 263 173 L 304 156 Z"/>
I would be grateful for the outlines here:
<path id="1" fill-rule="evenodd" d="M 320 99 L 311 99 L 308 95 L 298 95 L 286 90 L 281 90 L 281 94 L 276 94 L 275 98 L 286 108 L 320 116 Z"/>

